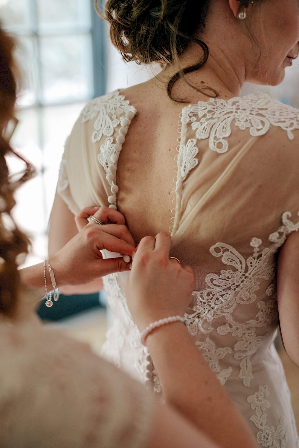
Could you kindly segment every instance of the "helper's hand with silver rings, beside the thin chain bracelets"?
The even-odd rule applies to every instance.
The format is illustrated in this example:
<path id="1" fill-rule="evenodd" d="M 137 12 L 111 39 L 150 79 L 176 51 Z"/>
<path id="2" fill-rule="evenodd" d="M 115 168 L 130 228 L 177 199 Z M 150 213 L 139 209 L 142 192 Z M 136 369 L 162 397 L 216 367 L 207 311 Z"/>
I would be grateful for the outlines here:
<path id="1" fill-rule="evenodd" d="M 88 223 L 94 215 L 103 225 Z M 106 224 L 106 223 L 117 224 Z M 89 284 L 112 272 L 128 271 L 122 256 L 103 259 L 100 250 L 129 255 L 135 243 L 125 225 L 125 218 L 108 207 L 86 207 L 76 216 L 79 231 L 61 250 L 50 257 L 58 287 Z"/>

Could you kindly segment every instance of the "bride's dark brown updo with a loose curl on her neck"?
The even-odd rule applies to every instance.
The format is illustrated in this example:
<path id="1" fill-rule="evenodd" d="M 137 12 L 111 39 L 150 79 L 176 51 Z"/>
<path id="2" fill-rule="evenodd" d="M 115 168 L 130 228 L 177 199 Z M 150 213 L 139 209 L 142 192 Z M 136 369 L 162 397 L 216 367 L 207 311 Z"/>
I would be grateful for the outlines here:
<path id="1" fill-rule="evenodd" d="M 108 0 L 102 13 L 95 0 L 95 9 L 109 22 L 111 41 L 124 60 L 178 67 L 178 73 L 169 80 L 167 93 L 174 101 L 183 102 L 173 98 L 173 85 L 208 60 L 208 47 L 196 35 L 204 29 L 209 4 L 210 0 Z M 179 56 L 191 42 L 202 48 L 203 56 L 195 65 L 181 68 Z M 210 90 L 212 96 L 217 96 L 215 90 Z"/>

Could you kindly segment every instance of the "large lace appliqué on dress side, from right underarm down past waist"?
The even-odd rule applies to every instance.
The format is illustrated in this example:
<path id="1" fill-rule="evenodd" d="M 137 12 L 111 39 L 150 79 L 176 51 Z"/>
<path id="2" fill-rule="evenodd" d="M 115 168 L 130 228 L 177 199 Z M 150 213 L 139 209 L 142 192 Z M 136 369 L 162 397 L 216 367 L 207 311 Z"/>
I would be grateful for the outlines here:
<path id="1" fill-rule="evenodd" d="M 273 243 L 268 248 L 261 249 L 262 241 L 252 238 L 251 247 L 253 255 L 247 260 L 233 247 L 217 243 L 210 249 L 214 257 L 221 257 L 226 266 L 234 267 L 221 271 L 221 275 L 208 274 L 206 276 L 207 289 L 195 292 L 197 304 L 193 314 L 185 314 L 189 322 L 189 332 L 196 335 L 198 331 L 210 333 L 213 331 L 211 323 L 221 316 L 225 316 L 227 323 L 217 327 L 220 335 L 231 334 L 242 338 L 234 345 L 234 358 L 240 361 L 239 378 L 243 379 L 245 386 L 250 386 L 253 378 L 251 356 L 256 353 L 267 336 L 256 335 L 256 329 L 265 327 L 275 322 L 278 317 L 277 302 L 269 300 L 257 303 L 259 308 L 256 319 L 250 319 L 245 323 L 236 322 L 232 313 L 237 305 L 247 305 L 256 301 L 256 290 L 259 289 L 260 280 L 273 280 L 276 265 L 269 265 L 269 259 L 277 252 L 278 248 L 286 241 L 286 237 L 294 230 L 299 229 L 299 222 L 292 223 L 291 214 L 286 212 L 282 216 L 283 225 L 277 232 L 269 237 Z M 273 284 L 267 289 L 267 295 L 275 291 Z"/>

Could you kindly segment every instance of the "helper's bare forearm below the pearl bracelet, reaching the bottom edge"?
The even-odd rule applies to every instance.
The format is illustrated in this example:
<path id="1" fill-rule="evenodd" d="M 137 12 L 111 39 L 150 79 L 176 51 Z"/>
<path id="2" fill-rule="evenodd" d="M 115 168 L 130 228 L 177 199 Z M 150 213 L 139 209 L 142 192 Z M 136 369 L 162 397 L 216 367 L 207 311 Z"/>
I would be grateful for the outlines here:
<path id="1" fill-rule="evenodd" d="M 221 447 L 258 447 L 246 422 L 182 323 L 165 325 L 152 332 L 147 346 L 166 402 Z"/>

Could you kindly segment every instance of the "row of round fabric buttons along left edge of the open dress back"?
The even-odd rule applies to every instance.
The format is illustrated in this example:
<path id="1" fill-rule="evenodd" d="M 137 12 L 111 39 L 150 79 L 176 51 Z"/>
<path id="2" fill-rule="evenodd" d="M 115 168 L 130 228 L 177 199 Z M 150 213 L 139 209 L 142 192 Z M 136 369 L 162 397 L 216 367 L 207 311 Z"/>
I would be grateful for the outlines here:
<path id="1" fill-rule="evenodd" d="M 108 167 L 108 174 L 106 176 L 107 181 L 111 187 L 111 195 L 108 196 L 109 208 L 114 208 L 117 210 L 116 202 L 117 197 L 116 194 L 118 192 L 118 186 L 116 185 L 116 170 L 117 170 L 117 161 L 119 154 L 122 149 L 122 144 L 125 142 L 125 136 L 128 132 L 128 127 L 130 125 L 130 121 L 134 117 L 134 112 L 128 111 L 126 112 L 126 118 L 121 118 L 121 128 L 119 129 L 119 135 L 116 138 L 116 143 L 113 147 L 113 153 L 110 156 L 111 164 Z"/>

